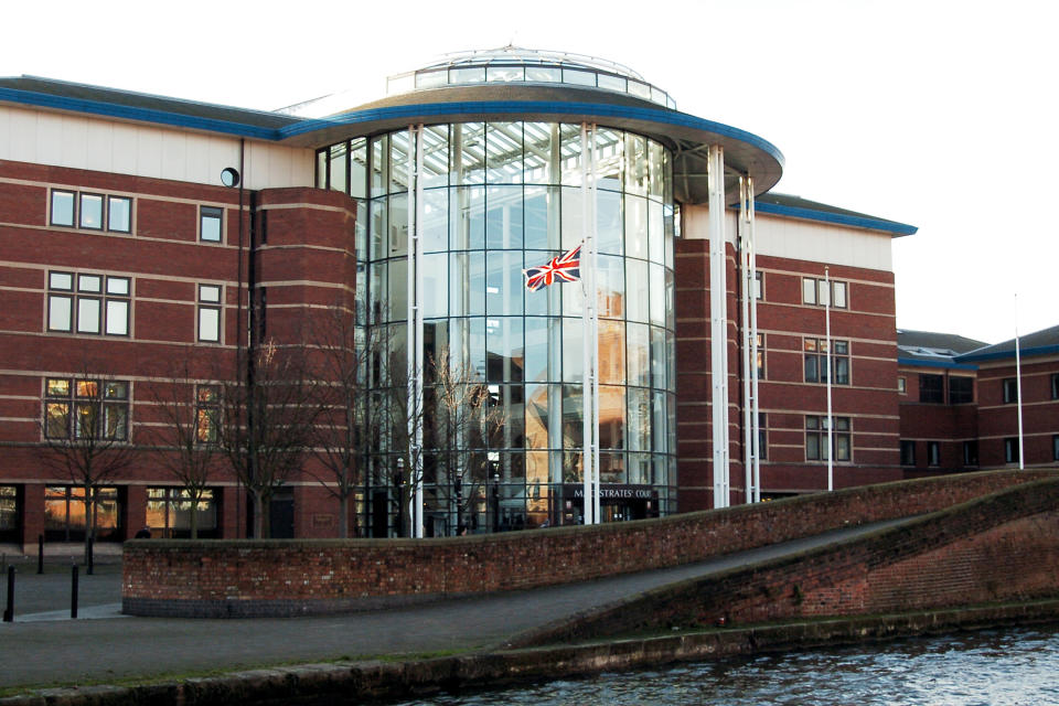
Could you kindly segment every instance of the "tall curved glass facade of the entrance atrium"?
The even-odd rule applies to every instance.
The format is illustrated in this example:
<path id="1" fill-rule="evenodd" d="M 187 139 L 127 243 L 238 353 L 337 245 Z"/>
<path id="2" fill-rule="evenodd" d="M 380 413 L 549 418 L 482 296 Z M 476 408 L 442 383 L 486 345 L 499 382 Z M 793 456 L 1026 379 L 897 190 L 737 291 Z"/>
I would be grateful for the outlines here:
<path id="1" fill-rule="evenodd" d="M 409 212 L 419 214 L 428 536 L 579 522 L 582 288 L 528 291 L 522 270 L 581 242 L 586 193 L 596 200 L 602 516 L 676 510 L 671 154 L 607 128 L 589 130 L 595 145 L 586 143 L 581 127 L 427 126 L 318 153 L 319 185 L 359 200 L 357 315 L 375 341 L 371 386 L 379 394 L 405 379 Z M 416 135 L 421 170 L 409 192 Z M 595 191 L 582 189 L 589 168 Z M 422 203 L 409 208 L 417 193 Z M 438 402 L 429 362 L 446 352 L 451 368 L 469 372 L 462 382 L 488 391 L 499 425 L 431 430 Z M 392 492 L 384 479 L 396 467 L 396 442 L 367 436 L 372 505 Z M 392 526 L 377 507 L 363 511 L 376 536 Z"/>

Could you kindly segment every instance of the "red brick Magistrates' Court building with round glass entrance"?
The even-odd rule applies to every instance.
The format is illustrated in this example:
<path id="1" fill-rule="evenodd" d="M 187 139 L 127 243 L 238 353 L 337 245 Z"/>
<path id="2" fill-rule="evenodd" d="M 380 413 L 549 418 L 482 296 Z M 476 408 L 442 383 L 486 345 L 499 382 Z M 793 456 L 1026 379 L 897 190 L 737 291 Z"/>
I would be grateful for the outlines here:
<path id="1" fill-rule="evenodd" d="M 510 57 L 504 58 L 510 63 Z M 430 76 L 451 68 L 448 76 L 453 85 L 431 83 L 430 90 L 403 94 L 325 120 L 55 81 L 0 79 L 0 291 L 7 304 L 0 310 L 0 543 L 28 545 L 40 534 L 49 541 L 76 541 L 84 535 L 83 488 L 44 457 L 53 446 L 50 439 L 77 438 L 85 419 L 101 425 L 108 439 L 132 451 L 120 472 L 99 483 L 100 539 L 120 541 L 145 525 L 154 535 L 186 534 L 190 504 L 182 484 L 167 470 L 165 453 L 159 451 L 172 426 L 164 400 L 182 395 L 196 419 L 211 419 L 217 389 L 243 375 L 239 364 L 247 350 L 268 345 L 311 356 L 314 343 L 307 332 L 318 315 L 335 308 L 356 310 L 363 317 L 357 322 L 370 325 L 373 318 L 386 314 L 388 306 L 396 307 L 398 301 L 403 306 L 405 281 L 395 274 L 400 270 L 394 253 L 402 247 L 407 250 L 404 218 L 415 213 L 415 206 L 405 211 L 409 201 L 405 194 L 414 191 L 400 181 L 410 173 L 404 170 L 413 169 L 415 152 L 399 152 L 399 146 L 409 133 L 419 136 L 421 145 L 442 130 L 441 139 L 454 145 L 460 135 L 457 127 L 466 125 L 471 127 L 463 130 L 464 137 L 480 129 L 483 140 L 498 140 L 498 145 L 515 131 L 521 136 L 517 169 L 510 169 L 514 159 L 510 154 L 503 156 L 506 162 L 488 162 L 488 169 L 482 157 L 485 184 L 494 179 L 516 182 L 489 186 L 489 199 L 517 192 L 517 200 L 512 207 L 505 204 L 502 212 L 482 216 L 480 235 L 490 243 L 491 228 L 503 227 L 503 243 L 495 247 L 507 248 L 504 257 L 517 263 L 512 267 L 522 267 L 550 250 L 526 250 L 523 258 L 506 239 L 515 233 L 512 217 L 523 218 L 525 213 L 528 243 L 531 228 L 539 225 L 531 223 L 531 210 L 541 204 L 547 220 L 541 232 L 549 243 L 542 248 L 557 247 L 558 240 L 552 244 L 552 238 L 558 231 L 552 228 L 578 227 L 573 206 L 559 218 L 549 205 L 558 203 L 560 192 L 576 204 L 578 192 L 571 190 L 585 189 L 566 181 L 574 179 L 566 164 L 575 159 L 567 157 L 570 146 L 589 153 L 586 138 L 578 142 L 577 130 L 567 129 L 566 124 L 577 128 L 580 121 L 591 130 L 589 135 L 596 135 L 597 121 L 613 122 L 612 129 L 600 129 L 600 136 L 591 138 L 602 146 L 601 163 L 618 156 L 600 167 L 600 190 L 613 188 L 618 194 L 608 201 L 619 214 L 617 225 L 610 224 L 618 234 L 616 253 L 640 260 L 625 265 L 628 276 L 621 275 L 618 265 L 617 279 L 608 280 L 613 292 L 601 307 L 601 315 L 612 319 L 601 325 L 607 336 L 601 355 L 608 360 L 600 361 L 603 383 L 610 385 L 605 389 L 610 395 L 607 399 L 613 403 L 600 419 L 606 427 L 608 518 L 707 507 L 718 498 L 706 247 L 714 226 L 705 196 L 706 164 L 691 149 L 704 140 L 704 145 L 723 146 L 727 156 L 723 181 L 728 196 L 720 192 L 729 208 L 720 220 L 728 234 L 728 313 L 723 325 L 727 330 L 729 471 L 723 485 L 724 504 L 742 502 L 748 494 L 744 458 L 752 425 L 746 422 L 742 384 L 751 376 L 742 361 L 753 327 L 749 314 L 742 313 L 750 301 L 740 282 L 755 269 L 759 389 L 753 396 L 760 410 L 760 483 L 751 483 L 757 484 L 758 494 L 826 489 L 830 454 L 834 486 L 899 478 L 890 240 L 916 228 L 767 193 L 782 168 L 782 156 L 768 142 L 677 114 L 667 94 L 617 65 L 582 62 L 574 72 L 576 77 L 567 81 L 561 72 L 570 71 L 571 64 L 568 57 L 563 61 L 567 63 L 560 61 L 534 78 L 525 73 L 530 68 L 517 69 L 523 71 L 522 78 L 504 73 L 504 81 L 526 82 L 528 98 L 547 97 L 549 103 L 537 100 L 532 109 L 517 101 L 483 103 L 489 109 L 478 119 L 505 120 L 495 128 L 492 122 L 467 122 L 475 117 L 467 115 L 468 101 L 494 99 L 490 92 L 496 87 L 486 85 L 488 81 L 470 87 L 456 85 L 462 79 L 451 77 L 463 76 L 459 73 L 463 68 L 430 67 Z M 484 67 L 481 71 L 483 76 L 493 75 L 484 73 Z M 591 86 L 585 83 L 589 77 L 596 82 Z M 414 78 L 418 82 L 421 76 Z M 509 87 L 501 88 L 507 92 Z M 435 103 L 425 115 L 435 116 L 435 131 L 424 132 L 420 127 L 409 132 L 409 110 L 420 109 L 428 99 Z M 598 115 L 575 114 L 564 104 L 568 100 L 585 110 L 588 99 L 600 101 Z M 547 129 L 541 131 L 539 126 Z M 537 135 L 553 139 L 547 130 L 556 137 L 542 159 L 554 164 L 545 161 L 532 168 L 531 139 Z M 613 136 L 614 141 L 606 142 Z M 463 145 L 469 150 L 473 138 Z M 478 168 L 466 163 L 469 153 L 461 158 L 464 163 L 447 162 L 448 167 L 441 164 L 430 173 L 449 190 L 434 194 L 451 193 L 456 204 L 466 194 L 477 194 L 475 189 L 486 193 L 485 186 L 449 184 L 446 169 L 473 179 Z M 537 157 L 534 153 L 533 159 Z M 404 161 L 394 161 L 398 158 Z M 591 159 L 597 159 L 595 153 Z M 379 171 L 383 163 L 393 170 Z M 612 173 L 603 173 L 603 168 L 611 167 Z M 435 168 L 428 159 L 419 169 Z M 548 169 L 553 181 L 561 172 L 561 183 L 548 185 Z M 547 199 L 531 201 L 533 179 L 545 180 L 546 188 L 537 191 Z M 757 190 L 750 194 L 756 196 L 756 220 L 746 221 L 736 210 L 740 179 Z M 379 190 L 383 195 L 375 197 Z M 479 216 L 463 214 L 471 238 Z M 523 237 L 521 223 L 518 238 Z M 746 223 L 752 227 L 752 237 Z M 457 225 L 451 227 L 456 233 Z M 635 239 L 641 236 L 642 240 Z M 561 243 L 565 249 L 567 240 Z M 634 245 L 642 245 L 643 253 L 634 253 Z M 756 264 L 748 269 L 745 253 L 750 245 Z M 481 247 L 483 261 L 494 261 L 484 259 L 485 248 L 494 246 Z M 453 268 L 463 261 L 460 257 L 464 256 L 451 255 Z M 641 270 L 640 279 L 633 279 L 632 272 Z M 451 276 L 456 277 L 454 270 Z M 495 398 L 523 426 L 505 431 L 495 460 L 490 452 L 484 482 L 473 490 L 464 486 L 468 515 L 473 515 L 479 531 L 496 528 L 501 522 L 504 526 L 576 522 L 570 505 L 580 501 L 569 481 L 580 467 L 567 448 L 576 436 L 569 422 L 576 415 L 558 402 L 548 402 L 561 398 L 567 405 L 577 392 L 566 384 L 574 381 L 573 356 L 564 355 L 557 363 L 552 354 L 539 355 L 544 370 L 558 370 L 559 363 L 567 370 L 546 378 L 535 397 L 533 378 L 527 373 L 525 379 L 521 376 L 536 354 L 531 347 L 538 343 L 532 339 L 528 314 L 538 315 L 534 321 L 543 325 L 544 310 L 531 311 L 521 295 L 516 304 L 511 303 L 521 284 L 517 276 L 495 281 L 489 279 L 492 276 L 490 270 L 481 278 L 483 311 L 479 313 L 484 333 L 475 333 L 478 319 L 471 318 L 466 327 L 469 333 L 462 335 L 471 345 L 477 345 L 475 335 L 486 341 L 481 352 L 483 377 L 492 382 L 494 371 L 502 376 Z M 478 282 L 473 271 L 468 281 Z M 442 296 L 462 293 L 459 286 L 438 286 L 429 276 L 427 287 L 438 287 L 432 291 Z M 650 307 L 639 287 L 650 290 Z M 474 297 L 467 306 L 475 306 Z M 357 301 L 371 310 L 363 311 Z M 495 310 L 496 315 L 494 301 L 503 308 Z M 436 308 L 435 302 L 427 303 Z M 564 303 L 564 315 L 568 309 Z M 449 319 L 428 322 L 427 344 L 435 341 L 430 336 L 449 335 L 449 330 L 456 335 L 454 314 L 451 310 L 442 314 Z M 576 331 L 579 321 L 564 325 Z M 509 338 L 503 355 L 494 354 L 489 336 L 504 322 L 517 324 L 520 333 L 514 339 L 504 334 Z M 523 330 L 524 342 L 517 344 Z M 541 341 L 565 341 L 567 333 L 559 334 L 560 330 L 555 330 L 555 338 L 547 329 L 548 338 Z M 640 368 L 633 370 L 637 365 Z M 377 373 L 373 368 L 372 374 Z M 490 393 L 494 394 L 492 387 Z M 538 403 L 549 411 L 535 418 L 539 428 L 531 428 L 530 405 Z M 549 427 L 554 428 L 549 431 Z M 548 448 L 537 450 L 536 439 L 544 439 Z M 394 461 L 393 454 L 387 458 L 384 466 Z M 536 466 L 535 459 L 539 459 Z M 325 474 L 317 466 L 307 457 L 297 472 L 277 485 L 269 510 L 274 536 L 339 534 L 338 505 L 330 492 L 333 483 L 320 482 Z M 391 533 L 394 525 L 387 513 L 393 514 L 393 507 L 382 514 L 377 509 L 393 504 L 393 491 L 385 483 L 372 485 L 367 478 L 361 481 L 364 485 L 353 499 L 349 531 Z M 201 534 L 245 536 L 253 505 L 224 459 L 215 459 L 206 490 L 196 511 Z M 430 492 L 434 500 L 425 501 L 425 506 L 451 504 L 443 498 L 451 489 L 442 492 L 438 483 Z M 459 486 L 456 498 L 459 502 Z M 397 501 L 395 506 L 399 505 Z M 429 517 L 434 532 L 450 533 L 463 523 L 459 510 L 453 522 L 451 510 L 438 506 L 431 506 L 436 512 Z"/>

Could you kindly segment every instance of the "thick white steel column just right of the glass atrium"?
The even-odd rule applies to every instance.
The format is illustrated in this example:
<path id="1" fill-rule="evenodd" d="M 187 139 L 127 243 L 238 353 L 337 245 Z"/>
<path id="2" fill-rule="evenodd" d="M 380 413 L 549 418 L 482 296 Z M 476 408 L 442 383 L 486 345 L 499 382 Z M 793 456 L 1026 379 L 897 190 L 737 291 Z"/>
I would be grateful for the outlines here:
<path id="1" fill-rule="evenodd" d="M 713 379 L 714 507 L 728 506 L 728 307 L 725 257 L 725 152 L 709 146 L 709 311 Z"/>

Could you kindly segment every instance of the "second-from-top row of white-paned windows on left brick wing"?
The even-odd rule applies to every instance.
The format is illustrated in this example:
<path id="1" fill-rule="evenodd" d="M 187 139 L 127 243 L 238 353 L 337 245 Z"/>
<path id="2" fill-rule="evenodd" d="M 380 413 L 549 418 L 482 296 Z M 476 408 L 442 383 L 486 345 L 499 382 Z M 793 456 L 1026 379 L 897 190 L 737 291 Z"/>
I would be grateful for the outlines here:
<path id="1" fill-rule="evenodd" d="M 129 335 L 131 282 L 130 277 L 116 275 L 50 271 L 47 330 Z M 222 293 L 220 285 L 199 285 L 196 321 L 201 342 L 221 341 Z"/>

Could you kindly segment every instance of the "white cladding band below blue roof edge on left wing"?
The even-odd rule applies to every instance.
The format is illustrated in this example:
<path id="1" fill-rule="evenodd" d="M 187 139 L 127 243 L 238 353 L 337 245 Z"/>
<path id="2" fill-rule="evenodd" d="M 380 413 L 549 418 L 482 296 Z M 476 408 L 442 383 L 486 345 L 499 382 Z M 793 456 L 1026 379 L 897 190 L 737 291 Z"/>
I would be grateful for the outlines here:
<path id="1" fill-rule="evenodd" d="M 239 165 L 239 139 L 105 118 L 0 106 L 0 159 L 221 184 Z M 313 151 L 247 141 L 248 189 L 313 185 Z"/>

